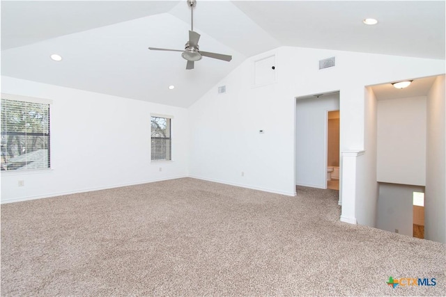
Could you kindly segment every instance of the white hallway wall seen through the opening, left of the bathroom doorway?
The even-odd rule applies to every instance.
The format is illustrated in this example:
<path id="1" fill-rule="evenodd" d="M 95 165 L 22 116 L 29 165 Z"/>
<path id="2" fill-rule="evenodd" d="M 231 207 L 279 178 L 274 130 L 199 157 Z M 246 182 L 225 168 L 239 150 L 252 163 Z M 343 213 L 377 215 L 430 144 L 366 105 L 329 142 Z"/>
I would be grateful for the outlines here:
<path id="1" fill-rule="evenodd" d="M 327 116 L 328 111 L 336 110 L 339 110 L 339 93 L 298 98 L 295 113 L 296 185 L 326 188 Z"/>

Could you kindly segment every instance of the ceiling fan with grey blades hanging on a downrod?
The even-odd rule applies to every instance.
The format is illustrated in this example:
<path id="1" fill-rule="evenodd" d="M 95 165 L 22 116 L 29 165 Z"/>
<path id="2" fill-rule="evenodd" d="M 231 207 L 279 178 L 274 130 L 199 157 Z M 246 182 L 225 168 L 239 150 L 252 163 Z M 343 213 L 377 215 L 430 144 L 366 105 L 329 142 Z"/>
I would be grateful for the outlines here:
<path id="1" fill-rule="evenodd" d="M 148 49 L 153 51 L 183 51 L 181 56 L 187 60 L 187 70 L 194 69 L 194 62 L 200 61 L 203 56 L 227 62 L 231 61 L 232 56 L 210 53 L 208 51 L 199 51 L 198 41 L 200 39 L 200 34 L 194 31 L 194 7 L 196 5 L 196 0 L 187 0 L 187 6 L 190 7 L 191 29 L 189 31 L 189 41 L 186 42 L 184 51 L 180 49 L 158 49 L 156 47 L 149 47 Z"/>

